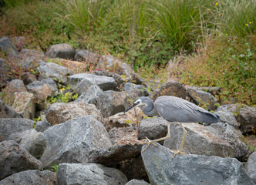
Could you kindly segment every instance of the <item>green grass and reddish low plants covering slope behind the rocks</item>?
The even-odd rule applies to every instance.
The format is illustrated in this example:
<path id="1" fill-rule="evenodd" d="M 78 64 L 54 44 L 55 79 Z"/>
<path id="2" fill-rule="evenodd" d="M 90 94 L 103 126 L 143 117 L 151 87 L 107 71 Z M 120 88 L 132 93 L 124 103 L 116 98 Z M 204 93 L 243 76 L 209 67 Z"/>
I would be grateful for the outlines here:
<path id="1" fill-rule="evenodd" d="M 43 52 L 69 43 L 130 63 L 143 78 L 217 86 L 255 106 L 254 0 L 0 0 L 0 37 Z M 176 67 L 168 67 L 172 66 Z"/>

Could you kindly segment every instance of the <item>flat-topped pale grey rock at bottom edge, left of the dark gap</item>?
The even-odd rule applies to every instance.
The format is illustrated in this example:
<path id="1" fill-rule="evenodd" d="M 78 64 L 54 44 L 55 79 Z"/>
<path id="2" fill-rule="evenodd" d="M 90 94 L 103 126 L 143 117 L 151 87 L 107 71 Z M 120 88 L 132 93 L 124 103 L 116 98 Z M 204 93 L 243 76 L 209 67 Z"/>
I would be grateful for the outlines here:
<path id="1" fill-rule="evenodd" d="M 61 163 L 57 170 L 58 184 L 124 185 L 128 180 L 114 168 L 96 163 Z"/>

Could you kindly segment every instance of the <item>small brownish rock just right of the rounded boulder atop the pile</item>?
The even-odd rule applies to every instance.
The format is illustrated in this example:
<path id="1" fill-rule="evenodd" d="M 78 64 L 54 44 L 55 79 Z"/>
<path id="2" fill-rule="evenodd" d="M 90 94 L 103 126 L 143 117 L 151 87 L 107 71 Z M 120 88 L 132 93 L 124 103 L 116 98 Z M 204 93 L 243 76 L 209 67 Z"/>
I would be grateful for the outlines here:
<path id="1" fill-rule="evenodd" d="M 86 49 L 79 49 L 79 51 L 76 52 L 75 60 L 95 65 L 99 60 L 99 55 L 96 55 L 94 52 L 91 52 Z"/>

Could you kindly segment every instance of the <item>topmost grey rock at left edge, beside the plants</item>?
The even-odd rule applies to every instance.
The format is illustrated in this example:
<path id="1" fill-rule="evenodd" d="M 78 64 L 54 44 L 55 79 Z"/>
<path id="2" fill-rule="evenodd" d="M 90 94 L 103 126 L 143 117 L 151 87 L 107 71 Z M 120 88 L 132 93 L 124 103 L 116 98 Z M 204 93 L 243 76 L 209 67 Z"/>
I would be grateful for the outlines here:
<path id="1" fill-rule="evenodd" d="M 19 55 L 18 50 L 8 37 L 2 37 L 0 39 L 0 51 L 3 51 L 10 56 Z"/>

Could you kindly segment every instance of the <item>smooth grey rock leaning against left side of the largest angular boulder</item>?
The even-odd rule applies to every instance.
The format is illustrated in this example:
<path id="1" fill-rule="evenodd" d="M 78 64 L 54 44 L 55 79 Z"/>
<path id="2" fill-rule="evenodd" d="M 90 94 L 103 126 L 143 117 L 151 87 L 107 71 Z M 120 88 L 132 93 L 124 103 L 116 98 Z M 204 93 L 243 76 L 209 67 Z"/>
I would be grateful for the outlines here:
<path id="1" fill-rule="evenodd" d="M 45 136 L 36 130 L 25 130 L 22 133 L 13 133 L 8 140 L 14 140 L 24 147 L 32 156 L 39 159 L 46 148 Z"/>

